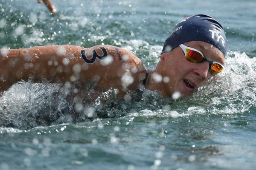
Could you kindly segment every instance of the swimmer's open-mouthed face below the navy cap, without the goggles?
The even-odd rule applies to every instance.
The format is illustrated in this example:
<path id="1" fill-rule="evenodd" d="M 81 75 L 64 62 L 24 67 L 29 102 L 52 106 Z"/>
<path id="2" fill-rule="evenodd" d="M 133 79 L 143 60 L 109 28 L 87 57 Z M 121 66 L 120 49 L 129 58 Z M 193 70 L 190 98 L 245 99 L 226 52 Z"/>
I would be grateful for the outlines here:
<path id="1" fill-rule="evenodd" d="M 224 54 L 215 46 L 202 41 L 184 45 L 201 51 L 208 60 L 224 65 Z M 161 55 L 160 67 L 162 77 L 169 78 L 169 82 L 160 84 L 163 96 L 172 96 L 175 92 L 179 92 L 180 97 L 189 96 L 213 76 L 209 72 L 209 62 L 189 62 L 179 46 Z"/>

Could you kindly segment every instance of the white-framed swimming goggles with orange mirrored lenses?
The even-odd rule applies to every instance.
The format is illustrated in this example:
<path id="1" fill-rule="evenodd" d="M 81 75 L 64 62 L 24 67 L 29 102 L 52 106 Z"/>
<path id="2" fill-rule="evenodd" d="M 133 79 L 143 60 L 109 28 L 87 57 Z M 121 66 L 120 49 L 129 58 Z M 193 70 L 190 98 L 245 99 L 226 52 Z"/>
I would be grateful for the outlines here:
<path id="1" fill-rule="evenodd" d="M 183 50 L 186 60 L 193 63 L 199 63 L 207 61 L 209 62 L 209 72 L 212 75 L 219 74 L 223 71 L 224 66 L 216 61 L 210 61 L 204 57 L 204 54 L 201 51 L 198 51 L 195 48 L 188 47 L 186 45 L 180 44 L 180 48 Z"/>

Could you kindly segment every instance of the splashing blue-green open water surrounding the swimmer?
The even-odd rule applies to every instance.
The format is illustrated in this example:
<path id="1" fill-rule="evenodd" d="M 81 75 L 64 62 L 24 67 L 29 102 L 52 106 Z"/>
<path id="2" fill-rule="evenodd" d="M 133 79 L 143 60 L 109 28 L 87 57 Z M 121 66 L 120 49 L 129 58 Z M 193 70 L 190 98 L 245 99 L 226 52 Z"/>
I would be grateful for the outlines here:
<path id="1" fill-rule="evenodd" d="M 154 68 L 174 24 L 203 13 L 225 28 L 227 68 L 176 101 L 147 91 L 127 102 L 110 89 L 91 102 L 84 91 L 19 82 L 0 97 L 1 170 L 255 169 L 254 0 L 52 0 L 57 14 L 34 1 L 0 0 L 1 48 L 110 44 Z"/>

